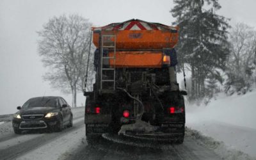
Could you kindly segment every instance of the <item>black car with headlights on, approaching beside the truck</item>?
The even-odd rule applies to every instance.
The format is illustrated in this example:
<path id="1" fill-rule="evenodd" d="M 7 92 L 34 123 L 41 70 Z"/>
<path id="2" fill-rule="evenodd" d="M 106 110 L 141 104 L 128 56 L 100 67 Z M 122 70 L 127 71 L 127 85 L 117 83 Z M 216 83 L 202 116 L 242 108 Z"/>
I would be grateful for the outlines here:
<path id="1" fill-rule="evenodd" d="M 13 115 L 12 125 L 16 134 L 25 130 L 51 129 L 62 131 L 72 127 L 73 115 L 70 106 L 62 97 L 35 97 L 29 99 Z"/>

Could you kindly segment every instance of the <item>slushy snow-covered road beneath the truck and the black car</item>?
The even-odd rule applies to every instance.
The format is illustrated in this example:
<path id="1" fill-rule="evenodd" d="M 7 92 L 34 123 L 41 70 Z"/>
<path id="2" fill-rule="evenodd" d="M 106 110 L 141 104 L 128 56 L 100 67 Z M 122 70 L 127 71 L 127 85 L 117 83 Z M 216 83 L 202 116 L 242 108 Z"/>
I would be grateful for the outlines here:
<path id="1" fill-rule="evenodd" d="M 207 138 L 200 138 L 191 129 L 186 129 L 182 145 L 138 147 L 103 138 L 88 145 L 84 136 L 84 108 L 72 111 L 74 126 L 62 132 L 17 135 L 12 131 L 11 122 L 1 124 L 0 159 L 221 159 L 214 152 L 218 143 L 211 141 L 211 145 L 207 145 Z M 154 145 L 156 147 L 152 147 Z"/>

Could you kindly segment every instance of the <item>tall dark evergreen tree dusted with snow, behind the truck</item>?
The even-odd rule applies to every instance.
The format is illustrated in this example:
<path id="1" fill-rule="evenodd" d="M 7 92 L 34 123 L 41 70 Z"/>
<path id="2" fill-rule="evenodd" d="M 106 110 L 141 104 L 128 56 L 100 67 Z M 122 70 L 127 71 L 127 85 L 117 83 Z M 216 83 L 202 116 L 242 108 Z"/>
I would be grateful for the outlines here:
<path id="1" fill-rule="evenodd" d="M 189 97 L 198 99 L 205 95 L 205 79 L 216 68 L 225 66 L 229 25 L 225 17 L 215 13 L 221 8 L 218 0 L 175 0 L 174 3 L 171 13 L 177 20 L 173 24 L 180 27 L 179 62 L 190 65 Z"/>

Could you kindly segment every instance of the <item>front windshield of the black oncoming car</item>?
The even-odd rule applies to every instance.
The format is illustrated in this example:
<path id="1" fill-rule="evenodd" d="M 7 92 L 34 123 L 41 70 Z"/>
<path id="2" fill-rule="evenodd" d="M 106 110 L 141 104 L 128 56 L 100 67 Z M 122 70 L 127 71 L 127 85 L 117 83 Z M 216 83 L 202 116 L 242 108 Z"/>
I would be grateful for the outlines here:
<path id="1" fill-rule="evenodd" d="M 36 108 L 36 107 L 52 107 L 56 108 L 56 99 L 49 99 L 46 97 L 38 97 L 29 99 L 27 102 L 25 102 L 22 106 L 22 108 Z"/>

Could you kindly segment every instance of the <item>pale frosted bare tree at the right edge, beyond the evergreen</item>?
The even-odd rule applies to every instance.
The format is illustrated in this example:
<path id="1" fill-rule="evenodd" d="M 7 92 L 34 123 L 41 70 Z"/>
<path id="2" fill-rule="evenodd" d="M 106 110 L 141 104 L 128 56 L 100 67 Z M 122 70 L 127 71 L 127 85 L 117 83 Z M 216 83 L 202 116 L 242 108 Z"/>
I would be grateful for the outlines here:
<path id="1" fill-rule="evenodd" d="M 231 53 L 227 63 L 228 83 L 239 92 L 243 88 L 250 88 L 253 83 L 256 32 L 246 24 L 236 24 L 230 33 L 230 43 Z"/>

